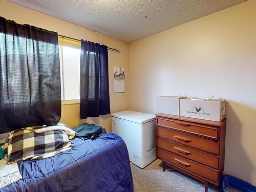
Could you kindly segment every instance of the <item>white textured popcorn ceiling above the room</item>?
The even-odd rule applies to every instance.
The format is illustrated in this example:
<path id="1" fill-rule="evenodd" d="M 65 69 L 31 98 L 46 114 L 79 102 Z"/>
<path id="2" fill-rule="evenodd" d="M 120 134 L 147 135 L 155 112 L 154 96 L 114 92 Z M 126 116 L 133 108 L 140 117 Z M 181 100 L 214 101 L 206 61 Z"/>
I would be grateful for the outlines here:
<path id="1" fill-rule="evenodd" d="M 8 1 L 132 42 L 243 3 L 246 0 Z"/>

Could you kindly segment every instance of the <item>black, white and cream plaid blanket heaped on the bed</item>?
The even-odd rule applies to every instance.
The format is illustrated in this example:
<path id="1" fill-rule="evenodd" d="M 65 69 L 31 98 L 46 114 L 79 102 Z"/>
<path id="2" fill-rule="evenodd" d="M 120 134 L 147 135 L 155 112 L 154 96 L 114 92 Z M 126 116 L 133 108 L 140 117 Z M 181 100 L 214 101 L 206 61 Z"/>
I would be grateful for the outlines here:
<path id="1" fill-rule="evenodd" d="M 27 127 L 12 131 L 9 134 L 3 146 L 3 150 L 7 154 L 8 164 L 31 158 L 52 157 L 74 146 L 65 131 L 54 130 L 35 133 L 35 130 L 42 127 Z"/>

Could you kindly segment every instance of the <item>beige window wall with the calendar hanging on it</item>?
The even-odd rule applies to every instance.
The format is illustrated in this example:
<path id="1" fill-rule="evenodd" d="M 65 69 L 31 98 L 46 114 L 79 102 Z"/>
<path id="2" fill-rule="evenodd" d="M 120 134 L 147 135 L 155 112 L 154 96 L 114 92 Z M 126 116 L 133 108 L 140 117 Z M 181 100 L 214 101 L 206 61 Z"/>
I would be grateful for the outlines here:
<path id="1" fill-rule="evenodd" d="M 63 20 L 42 14 L 31 9 L 27 9 L 16 4 L 6 1 L 0 1 L 0 16 L 7 19 L 15 20 L 19 24 L 29 24 L 50 31 L 58 32 L 60 35 L 65 35 L 78 39 L 86 39 L 100 44 L 107 45 L 112 48 L 121 49 L 121 53 L 109 51 L 109 76 L 110 76 L 110 102 L 111 112 L 127 110 L 129 108 L 129 44 L 119 39 L 103 35 L 86 28 L 73 25 Z M 113 70 L 114 66 L 125 68 L 126 73 L 126 93 L 114 93 L 113 89 Z M 60 122 L 67 123 L 70 126 L 76 126 L 81 122 L 79 118 L 79 104 L 62 105 L 62 118 Z M 110 115 L 100 118 L 91 118 L 88 122 L 100 124 L 108 131 L 111 131 Z"/>

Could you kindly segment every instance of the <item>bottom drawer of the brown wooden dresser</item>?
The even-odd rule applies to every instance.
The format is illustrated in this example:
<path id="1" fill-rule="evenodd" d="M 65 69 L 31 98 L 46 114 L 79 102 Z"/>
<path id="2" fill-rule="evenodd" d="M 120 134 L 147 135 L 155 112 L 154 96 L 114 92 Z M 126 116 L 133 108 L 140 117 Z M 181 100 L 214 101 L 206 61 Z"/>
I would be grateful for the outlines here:
<path id="1" fill-rule="evenodd" d="M 174 153 L 167 152 L 158 147 L 157 147 L 157 157 L 164 159 L 175 165 L 178 165 L 182 168 L 185 168 L 186 170 L 189 170 L 190 172 L 200 175 L 213 182 L 216 182 L 216 183 L 218 182 L 218 170 L 207 167 L 195 161 L 188 160 Z"/>

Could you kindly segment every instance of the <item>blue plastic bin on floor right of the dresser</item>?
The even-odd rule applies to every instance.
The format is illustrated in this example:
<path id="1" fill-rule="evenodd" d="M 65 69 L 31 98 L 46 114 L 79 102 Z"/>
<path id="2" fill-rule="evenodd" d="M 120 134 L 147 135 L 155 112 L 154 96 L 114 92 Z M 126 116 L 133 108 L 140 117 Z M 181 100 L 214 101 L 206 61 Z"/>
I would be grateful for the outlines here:
<path id="1" fill-rule="evenodd" d="M 228 190 L 226 190 L 227 187 L 243 192 L 256 192 L 256 187 L 250 183 L 229 175 L 224 175 L 221 178 L 222 191 L 228 192 Z"/>

